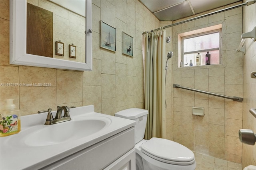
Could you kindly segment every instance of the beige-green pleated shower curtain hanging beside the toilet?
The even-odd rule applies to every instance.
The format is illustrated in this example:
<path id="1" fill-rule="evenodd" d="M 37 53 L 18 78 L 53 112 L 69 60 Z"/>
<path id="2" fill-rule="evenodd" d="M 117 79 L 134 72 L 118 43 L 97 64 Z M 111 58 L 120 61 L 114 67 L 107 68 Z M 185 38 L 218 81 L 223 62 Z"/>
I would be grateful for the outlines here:
<path id="1" fill-rule="evenodd" d="M 144 97 L 148 120 L 145 139 L 166 138 L 165 119 L 165 30 L 145 34 Z"/>

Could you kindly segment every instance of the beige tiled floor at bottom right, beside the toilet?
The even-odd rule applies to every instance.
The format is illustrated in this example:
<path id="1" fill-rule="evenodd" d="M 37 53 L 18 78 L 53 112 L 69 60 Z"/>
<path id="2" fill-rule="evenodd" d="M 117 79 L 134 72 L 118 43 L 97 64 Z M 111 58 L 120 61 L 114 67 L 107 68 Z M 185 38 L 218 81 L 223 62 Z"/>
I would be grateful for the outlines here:
<path id="1" fill-rule="evenodd" d="M 242 165 L 194 152 L 196 170 L 242 170 Z"/>

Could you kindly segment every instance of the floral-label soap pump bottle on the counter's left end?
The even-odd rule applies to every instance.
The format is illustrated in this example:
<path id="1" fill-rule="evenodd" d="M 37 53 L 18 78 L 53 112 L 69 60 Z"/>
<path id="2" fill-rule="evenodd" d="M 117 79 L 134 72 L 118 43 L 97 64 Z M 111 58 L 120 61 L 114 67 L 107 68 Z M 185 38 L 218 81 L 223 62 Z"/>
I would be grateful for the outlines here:
<path id="1" fill-rule="evenodd" d="M 7 99 L 0 113 L 0 137 L 20 132 L 20 111 L 15 110 L 13 99 Z"/>

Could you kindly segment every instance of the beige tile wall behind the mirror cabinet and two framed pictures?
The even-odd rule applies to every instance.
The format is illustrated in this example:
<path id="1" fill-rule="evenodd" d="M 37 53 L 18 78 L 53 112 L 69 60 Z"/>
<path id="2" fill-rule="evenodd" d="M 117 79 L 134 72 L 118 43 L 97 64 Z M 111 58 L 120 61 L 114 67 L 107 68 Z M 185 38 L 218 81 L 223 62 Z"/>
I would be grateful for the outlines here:
<path id="1" fill-rule="evenodd" d="M 51 83 L 50 87 L 1 86 L 1 105 L 13 98 L 22 115 L 56 110 L 57 105 L 94 105 L 96 112 L 108 115 L 144 108 L 142 31 L 158 28 L 160 22 L 138 0 L 92 3 L 93 69 L 81 72 L 10 65 L 9 1 L 0 1 L 0 83 Z M 116 53 L 100 48 L 100 20 L 117 29 Z M 134 57 L 122 55 L 122 31 L 134 37 Z"/>

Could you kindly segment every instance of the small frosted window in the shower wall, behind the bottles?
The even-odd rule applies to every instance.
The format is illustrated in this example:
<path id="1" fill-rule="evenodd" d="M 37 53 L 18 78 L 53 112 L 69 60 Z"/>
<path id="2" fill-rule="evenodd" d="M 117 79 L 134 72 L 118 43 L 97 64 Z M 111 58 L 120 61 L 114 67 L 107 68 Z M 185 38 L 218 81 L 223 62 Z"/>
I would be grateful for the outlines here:
<path id="1" fill-rule="evenodd" d="M 196 55 L 200 53 L 200 65 L 206 65 L 207 51 L 210 55 L 210 64 L 220 64 L 221 29 L 190 36 L 181 37 L 181 64 L 180 67 L 189 67 L 190 60 L 196 66 Z M 188 63 L 188 65 L 186 65 Z M 183 65 L 183 66 L 182 66 Z"/>

